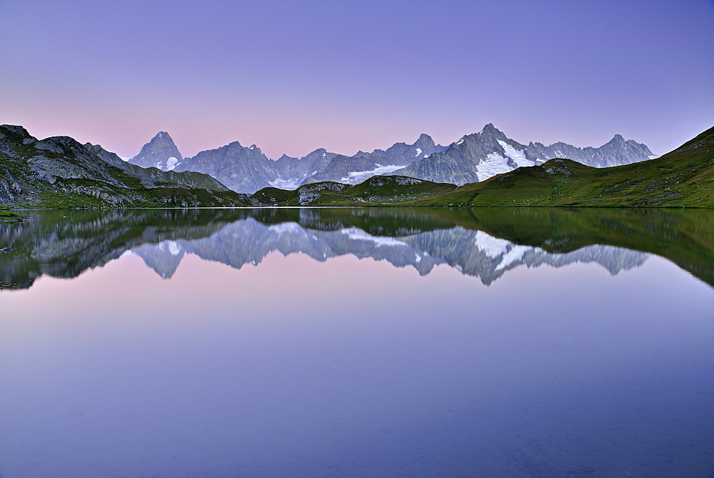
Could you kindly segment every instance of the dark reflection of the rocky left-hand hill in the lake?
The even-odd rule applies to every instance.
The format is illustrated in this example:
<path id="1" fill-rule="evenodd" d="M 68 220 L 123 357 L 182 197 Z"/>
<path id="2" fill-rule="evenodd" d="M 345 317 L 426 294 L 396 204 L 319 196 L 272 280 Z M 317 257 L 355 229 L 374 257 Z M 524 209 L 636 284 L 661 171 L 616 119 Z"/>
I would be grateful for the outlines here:
<path id="1" fill-rule="evenodd" d="M 127 249 L 170 239 L 201 239 L 241 219 L 241 209 L 31 211 L 0 227 L 0 290 L 26 289 L 42 274 L 76 277 Z M 69 216 L 69 217 L 67 217 Z"/>

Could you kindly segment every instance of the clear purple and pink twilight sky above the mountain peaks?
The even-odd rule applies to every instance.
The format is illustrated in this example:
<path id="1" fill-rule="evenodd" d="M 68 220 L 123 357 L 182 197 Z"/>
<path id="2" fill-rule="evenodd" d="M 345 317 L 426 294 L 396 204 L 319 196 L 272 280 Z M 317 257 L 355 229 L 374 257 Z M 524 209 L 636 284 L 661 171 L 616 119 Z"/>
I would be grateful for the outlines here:
<path id="1" fill-rule="evenodd" d="M 131 157 L 516 141 L 664 154 L 714 126 L 714 0 L 0 0 L 0 123 Z"/>

